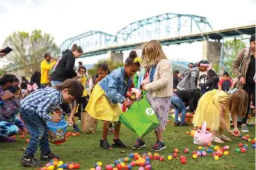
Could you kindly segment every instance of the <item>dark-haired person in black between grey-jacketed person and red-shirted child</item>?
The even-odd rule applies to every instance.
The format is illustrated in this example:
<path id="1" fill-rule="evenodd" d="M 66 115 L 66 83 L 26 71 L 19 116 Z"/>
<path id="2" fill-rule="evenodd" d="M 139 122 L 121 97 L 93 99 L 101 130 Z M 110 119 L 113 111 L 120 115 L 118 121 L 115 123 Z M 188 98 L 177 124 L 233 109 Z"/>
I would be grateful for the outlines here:
<path id="1" fill-rule="evenodd" d="M 209 92 L 214 89 L 218 89 L 218 80 L 219 77 L 216 74 L 216 72 L 213 69 L 210 69 L 207 71 L 207 82 L 206 83 L 200 83 L 199 86 L 201 88 L 204 88 L 206 92 Z M 202 93 L 204 94 L 204 93 Z"/>

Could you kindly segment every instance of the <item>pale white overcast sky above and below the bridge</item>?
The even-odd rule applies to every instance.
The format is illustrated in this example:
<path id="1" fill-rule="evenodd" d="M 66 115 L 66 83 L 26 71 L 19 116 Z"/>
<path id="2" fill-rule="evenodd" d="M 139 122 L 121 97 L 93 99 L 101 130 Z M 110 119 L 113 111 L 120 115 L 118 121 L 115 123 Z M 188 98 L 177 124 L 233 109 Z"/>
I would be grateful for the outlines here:
<path id="1" fill-rule="evenodd" d="M 34 29 L 50 33 L 58 46 L 67 38 L 90 30 L 115 35 L 131 22 L 166 12 L 206 17 L 218 30 L 256 23 L 255 9 L 256 0 L 0 0 L 0 46 L 14 31 Z M 193 53 L 191 60 L 199 60 L 202 44 L 193 45 L 173 46 L 176 52 L 168 51 L 170 58 Z"/>

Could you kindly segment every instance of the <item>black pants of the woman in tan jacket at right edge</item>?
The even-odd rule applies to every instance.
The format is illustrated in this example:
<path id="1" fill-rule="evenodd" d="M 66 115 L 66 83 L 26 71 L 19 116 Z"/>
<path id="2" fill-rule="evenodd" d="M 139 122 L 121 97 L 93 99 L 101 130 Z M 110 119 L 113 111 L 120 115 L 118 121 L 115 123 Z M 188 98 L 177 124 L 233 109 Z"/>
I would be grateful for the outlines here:
<path id="1" fill-rule="evenodd" d="M 248 108 L 246 112 L 246 117 L 243 118 L 242 124 L 247 123 L 248 115 L 250 112 L 250 96 L 253 94 L 253 105 L 255 106 L 255 83 L 246 83 L 246 85 L 243 87 L 243 90 L 245 90 L 248 93 Z"/>

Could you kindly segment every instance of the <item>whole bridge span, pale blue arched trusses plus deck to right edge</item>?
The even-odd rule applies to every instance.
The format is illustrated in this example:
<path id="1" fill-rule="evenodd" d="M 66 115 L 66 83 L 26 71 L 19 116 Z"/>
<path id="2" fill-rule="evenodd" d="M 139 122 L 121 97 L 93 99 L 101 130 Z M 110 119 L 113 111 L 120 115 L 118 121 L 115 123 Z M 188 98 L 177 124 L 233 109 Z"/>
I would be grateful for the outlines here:
<path id="1" fill-rule="evenodd" d="M 108 53 L 108 51 L 140 49 L 145 42 L 154 39 L 159 40 L 162 45 L 209 39 L 220 42 L 223 37 L 253 33 L 255 33 L 255 25 L 213 31 L 205 17 L 165 13 L 128 24 L 115 35 L 102 31 L 88 31 L 65 40 L 60 49 L 71 49 L 72 44 L 79 44 L 83 49 L 82 57 L 88 57 Z"/>

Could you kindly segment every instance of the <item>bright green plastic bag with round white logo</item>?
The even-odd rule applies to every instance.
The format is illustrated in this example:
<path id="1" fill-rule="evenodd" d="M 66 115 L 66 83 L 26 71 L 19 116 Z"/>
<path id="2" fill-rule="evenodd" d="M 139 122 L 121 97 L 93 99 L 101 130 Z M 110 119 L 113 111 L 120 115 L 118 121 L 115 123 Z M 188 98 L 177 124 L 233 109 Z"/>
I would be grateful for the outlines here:
<path id="1" fill-rule="evenodd" d="M 157 115 L 145 95 L 141 100 L 134 102 L 131 108 L 120 114 L 119 117 L 119 121 L 134 131 L 138 137 L 145 137 L 145 135 L 159 126 Z"/>

